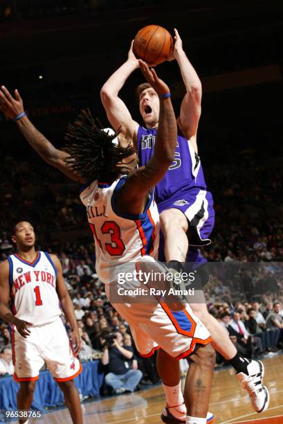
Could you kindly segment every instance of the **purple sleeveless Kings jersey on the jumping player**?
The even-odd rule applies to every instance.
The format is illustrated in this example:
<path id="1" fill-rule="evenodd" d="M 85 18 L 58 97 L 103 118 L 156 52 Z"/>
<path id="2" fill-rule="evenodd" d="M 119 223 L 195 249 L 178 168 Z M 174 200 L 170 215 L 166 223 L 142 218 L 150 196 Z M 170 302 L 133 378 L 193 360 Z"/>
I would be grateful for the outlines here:
<path id="1" fill-rule="evenodd" d="M 155 128 L 138 127 L 138 159 L 140 166 L 145 166 L 154 154 L 156 132 Z M 182 136 L 177 137 L 174 161 L 163 179 L 158 182 L 154 190 L 154 199 L 157 204 L 160 204 L 180 189 L 186 191 L 206 190 L 206 182 L 199 156 L 194 151 L 192 143 Z"/>

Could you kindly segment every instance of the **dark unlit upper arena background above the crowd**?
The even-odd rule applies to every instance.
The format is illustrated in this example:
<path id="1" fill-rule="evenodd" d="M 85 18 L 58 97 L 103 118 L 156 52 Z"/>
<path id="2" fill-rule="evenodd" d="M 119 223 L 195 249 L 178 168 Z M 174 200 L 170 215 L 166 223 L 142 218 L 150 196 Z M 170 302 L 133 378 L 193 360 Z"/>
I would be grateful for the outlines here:
<path id="1" fill-rule="evenodd" d="M 259 185 L 262 197 L 266 168 L 271 185 L 278 177 L 272 196 L 264 202 L 280 202 L 281 162 L 270 166 L 267 161 L 283 156 L 282 1 L 2 0 L 0 13 L 0 84 L 19 89 L 33 123 L 55 145 L 64 143 L 66 125 L 82 107 L 90 107 L 108 126 L 100 88 L 127 58 L 131 39 L 140 28 L 160 24 L 171 33 L 178 28 L 203 83 L 199 152 L 217 209 L 225 209 L 225 216 L 233 208 L 240 213 L 241 196 L 237 204 L 228 198 L 223 208 L 223 192 L 232 184 L 246 191 L 247 198 L 254 196 L 248 187 Z M 170 85 L 178 114 L 184 93 L 179 68 L 175 62 L 165 62 L 157 70 Z M 136 71 L 121 91 L 136 120 L 134 88 L 142 81 Z M 50 168 L 33 153 L 15 124 L 2 115 L 0 143 L 3 157 L 12 155 L 12 161 L 0 170 L 2 181 L 11 173 L 17 188 L 15 169 L 28 161 L 37 166 L 39 191 L 46 191 L 51 179 L 52 184 L 71 186 L 58 171 L 51 176 Z M 232 175 L 227 166 L 235 167 Z M 17 178 L 21 175 L 20 170 Z M 3 195 L 10 190 L 5 184 Z M 21 202 L 21 197 L 17 199 Z M 35 203 L 44 207 L 44 202 Z M 278 207 L 277 218 L 282 201 Z M 257 200 L 257 209 L 261 208 Z M 248 216 L 241 216 L 241 222 Z M 221 213 L 217 217 L 216 231 L 223 230 Z"/>

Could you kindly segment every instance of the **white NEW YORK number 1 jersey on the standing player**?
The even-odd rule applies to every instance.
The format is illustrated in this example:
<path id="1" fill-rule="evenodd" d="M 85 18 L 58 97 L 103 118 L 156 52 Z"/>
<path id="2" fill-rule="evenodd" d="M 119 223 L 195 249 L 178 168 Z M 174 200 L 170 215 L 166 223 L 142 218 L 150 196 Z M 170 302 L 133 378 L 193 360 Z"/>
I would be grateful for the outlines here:
<path id="1" fill-rule="evenodd" d="M 33 263 L 14 254 L 8 256 L 10 303 L 19 319 L 42 326 L 62 314 L 56 292 L 57 270 L 47 252 L 37 251 Z"/>

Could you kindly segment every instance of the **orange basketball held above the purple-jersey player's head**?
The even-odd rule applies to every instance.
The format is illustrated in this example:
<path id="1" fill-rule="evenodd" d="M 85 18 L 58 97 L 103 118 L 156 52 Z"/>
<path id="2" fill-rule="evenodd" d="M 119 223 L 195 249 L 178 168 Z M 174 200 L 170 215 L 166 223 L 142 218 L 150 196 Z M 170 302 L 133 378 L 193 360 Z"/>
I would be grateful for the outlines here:
<path id="1" fill-rule="evenodd" d="M 134 39 L 134 54 L 147 64 L 165 62 L 171 53 L 173 39 L 162 26 L 148 25 L 138 31 Z"/>

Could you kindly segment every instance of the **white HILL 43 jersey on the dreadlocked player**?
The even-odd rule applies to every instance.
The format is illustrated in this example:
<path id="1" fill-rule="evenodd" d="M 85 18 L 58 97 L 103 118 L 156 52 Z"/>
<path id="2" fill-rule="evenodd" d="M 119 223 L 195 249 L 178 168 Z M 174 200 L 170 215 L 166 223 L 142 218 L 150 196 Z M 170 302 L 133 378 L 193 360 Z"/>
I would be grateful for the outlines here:
<path id="1" fill-rule="evenodd" d="M 123 263 L 158 256 L 159 214 L 152 196 L 140 215 L 116 210 L 116 197 L 126 179 L 122 176 L 111 185 L 94 181 L 80 193 L 95 240 L 96 272 L 103 283 L 112 281 L 115 267 Z"/>

